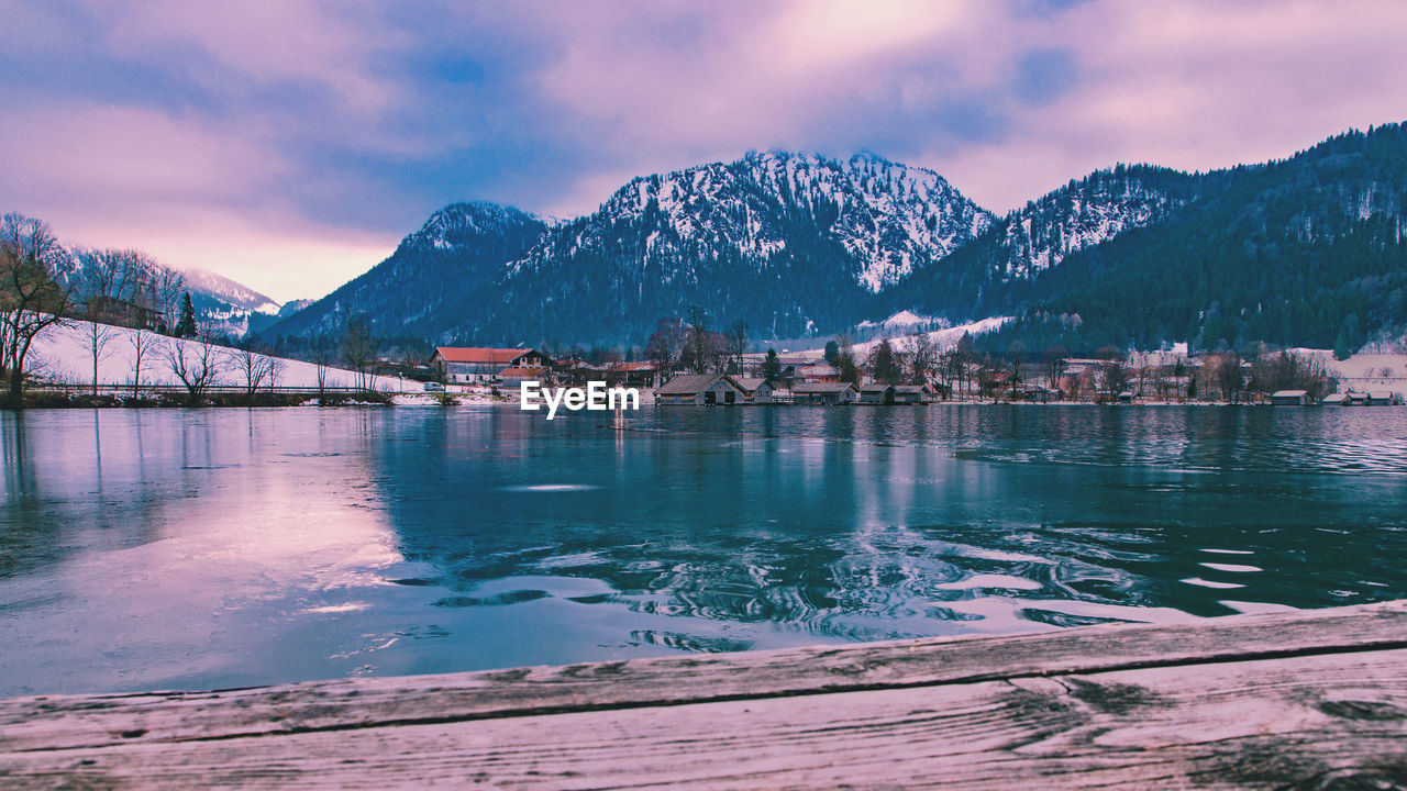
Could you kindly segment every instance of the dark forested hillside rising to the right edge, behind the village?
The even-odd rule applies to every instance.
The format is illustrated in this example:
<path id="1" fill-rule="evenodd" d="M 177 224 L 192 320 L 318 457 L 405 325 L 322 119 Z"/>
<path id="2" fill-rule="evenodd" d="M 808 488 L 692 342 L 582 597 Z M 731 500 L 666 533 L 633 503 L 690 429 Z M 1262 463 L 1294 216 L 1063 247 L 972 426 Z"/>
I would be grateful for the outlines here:
<path id="1" fill-rule="evenodd" d="M 976 311 L 1021 314 L 993 341 L 1027 346 L 1356 349 L 1407 327 L 1404 214 L 1407 128 L 1348 132 L 1199 176 L 1159 221 L 983 294 Z"/>

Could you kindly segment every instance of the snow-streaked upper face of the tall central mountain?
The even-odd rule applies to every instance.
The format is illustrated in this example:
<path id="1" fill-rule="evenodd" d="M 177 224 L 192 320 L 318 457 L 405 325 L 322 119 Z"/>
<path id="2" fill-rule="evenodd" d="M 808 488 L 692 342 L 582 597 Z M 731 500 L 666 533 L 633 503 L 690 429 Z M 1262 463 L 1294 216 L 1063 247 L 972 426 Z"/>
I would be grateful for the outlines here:
<path id="1" fill-rule="evenodd" d="M 788 245 L 822 235 L 850 255 L 850 276 L 874 294 L 986 231 L 992 215 L 937 173 L 874 155 L 840 162 L 750 153 L 633 179 L 509 269 L 590 253 L 622 224 L 644 234 L 640 256 L 666 262 L 667 281 L 692 277 L 701 249 L 726 249 L 767 267 Z"/>

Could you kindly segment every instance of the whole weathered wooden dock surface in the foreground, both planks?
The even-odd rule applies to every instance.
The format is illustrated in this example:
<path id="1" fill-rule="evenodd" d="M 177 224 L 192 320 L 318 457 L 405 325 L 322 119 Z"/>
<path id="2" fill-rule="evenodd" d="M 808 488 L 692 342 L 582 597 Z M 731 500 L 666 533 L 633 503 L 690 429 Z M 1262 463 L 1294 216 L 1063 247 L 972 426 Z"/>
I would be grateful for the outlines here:
<path id="1" fill-rule="evenodd" d="M 1407 788 L 1407 602 L 0 701 L 3 788 Z"/>

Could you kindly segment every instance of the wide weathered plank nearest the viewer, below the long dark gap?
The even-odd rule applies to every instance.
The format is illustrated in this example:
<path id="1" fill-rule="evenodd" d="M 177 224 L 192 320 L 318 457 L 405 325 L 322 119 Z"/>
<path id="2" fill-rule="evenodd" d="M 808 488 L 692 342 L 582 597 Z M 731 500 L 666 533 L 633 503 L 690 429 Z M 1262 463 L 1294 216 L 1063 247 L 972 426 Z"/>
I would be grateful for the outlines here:
<path id="1" fill-rule="evenodd" d="M 0 756 L 44 788 L 1390 788 L 1407 649 Z M 1396 783 L 1397 785 L 1390 785 Z"/>

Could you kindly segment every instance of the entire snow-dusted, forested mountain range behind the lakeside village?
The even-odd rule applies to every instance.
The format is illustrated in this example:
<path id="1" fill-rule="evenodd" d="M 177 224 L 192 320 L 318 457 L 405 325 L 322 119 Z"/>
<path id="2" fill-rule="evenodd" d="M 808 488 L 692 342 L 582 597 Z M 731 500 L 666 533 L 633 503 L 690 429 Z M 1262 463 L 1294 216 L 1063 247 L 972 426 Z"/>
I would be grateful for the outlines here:
<path id="1" fill-rule="evenodd" d="M 915 329 L 867 324 L 895 315 L 937 329 L 1037 311 L 1102 327 L 1096 346 L 1127 345 L 1121 327 L 1155 345 L 1189 332 L 1233 341 L 1206 329 L 1207 315 L 1268 341 L 1311 325 L 1321 338 L 1352 318 L 1355 338 L 1404 318 L 1393 258 L 1407 239 L 1404 162 L 1407 131 L 1389 125 L 1210 173 L 1120 165 L 995 218 L 922 167 L 750 153 L 632 179 L 597 211 L 552 225 L 495 204 L 446 207 L 376 269 L 263 335 L 317 334 L 360 312 L 384 335 L 433 342 L 637 345 L 661 318 L 698 311 L 713 329 L 741 321 L 770 338 Z M 1339 248 L 1331 259 L 1328 245 Z M 1332 310 L 1286 300 L 1271 265 L 1330 289 Z M 1359 284 L 1355 266 L 1382 287 Z M 1164 281 L 1176 287 L 1150 286 Z M 1089 297 L 1114 286 L 1119 298 Z M 1161 318 L 1142 327 L 1128 311 Z M 1000 332 L 1024 332 L 1024 321 Z M 1027 341 L 1045 348 L 1061 332 Z"/>

